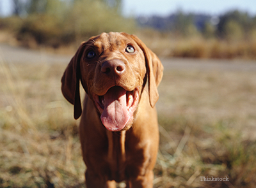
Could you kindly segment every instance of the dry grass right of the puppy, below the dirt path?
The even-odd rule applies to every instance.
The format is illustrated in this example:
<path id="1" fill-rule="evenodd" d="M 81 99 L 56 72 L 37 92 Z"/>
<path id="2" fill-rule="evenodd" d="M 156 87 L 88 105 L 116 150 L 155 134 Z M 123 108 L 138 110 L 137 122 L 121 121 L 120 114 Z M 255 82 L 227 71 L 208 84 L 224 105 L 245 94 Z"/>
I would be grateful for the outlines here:
<path id="1" fill-rule="evenodd" d="M 165 72 L 156 187 L 256 185 L 255 80 L 254 72 Z M 201 182 L 200 177 L 230 181 Z"/>

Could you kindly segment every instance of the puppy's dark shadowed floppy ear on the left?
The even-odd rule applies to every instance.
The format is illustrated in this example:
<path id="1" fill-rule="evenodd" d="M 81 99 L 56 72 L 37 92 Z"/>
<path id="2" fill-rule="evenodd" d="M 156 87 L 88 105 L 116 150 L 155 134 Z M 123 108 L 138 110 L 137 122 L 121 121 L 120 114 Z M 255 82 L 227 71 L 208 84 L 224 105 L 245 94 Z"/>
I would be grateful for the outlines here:
<path id="1" fill-rule="evenodd" d="M 74 105 L 74 118 L 78 119 L 82 113 L 79 83 L 81 78 L 80 61 L 83 55 L 85 42 L 81 43 L 74 57 L 69 62 L 62 78 L 61 91 L 63 96 Z"/>

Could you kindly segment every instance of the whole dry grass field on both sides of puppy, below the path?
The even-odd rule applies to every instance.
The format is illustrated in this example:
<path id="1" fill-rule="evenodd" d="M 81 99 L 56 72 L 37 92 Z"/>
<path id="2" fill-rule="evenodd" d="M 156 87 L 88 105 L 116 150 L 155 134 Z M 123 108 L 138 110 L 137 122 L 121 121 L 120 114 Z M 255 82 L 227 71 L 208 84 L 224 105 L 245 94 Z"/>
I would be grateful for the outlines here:
<path id="1" fill-rule="evenodd" d="M 0 187 L 84 187 L 66 66 L 0 60 Z M 159 94 L 154 187 L 256 186 L 255 71 L 165 69 Z"/>

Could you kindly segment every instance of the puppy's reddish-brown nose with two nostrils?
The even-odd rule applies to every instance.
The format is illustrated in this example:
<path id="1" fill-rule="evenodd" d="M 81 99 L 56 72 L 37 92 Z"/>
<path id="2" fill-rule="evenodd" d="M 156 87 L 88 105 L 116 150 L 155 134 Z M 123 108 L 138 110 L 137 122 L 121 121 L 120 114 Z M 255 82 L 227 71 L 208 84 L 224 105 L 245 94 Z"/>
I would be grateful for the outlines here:
<path id="1" fill-rule="evenodd" d="M 112 59 L 102 63 L 102 73 L 121 75 L 125 71 L 125 64 L 119 59 Z"/>

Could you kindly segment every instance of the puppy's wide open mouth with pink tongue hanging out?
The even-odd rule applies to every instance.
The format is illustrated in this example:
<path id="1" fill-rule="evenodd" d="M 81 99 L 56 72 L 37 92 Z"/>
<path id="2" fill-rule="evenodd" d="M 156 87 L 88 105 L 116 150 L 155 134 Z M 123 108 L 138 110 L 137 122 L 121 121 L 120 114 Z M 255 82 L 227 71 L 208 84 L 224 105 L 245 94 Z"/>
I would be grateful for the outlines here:
<path id="1" fill-rule="evenodd" d="M 103 96 L 93 96 L 100 112 L 102 124 L 109 131 L 121 131 L 132 121 L 139 102 L 139 89 L 132 91 L 123 87 L 111 87 Z"/>

